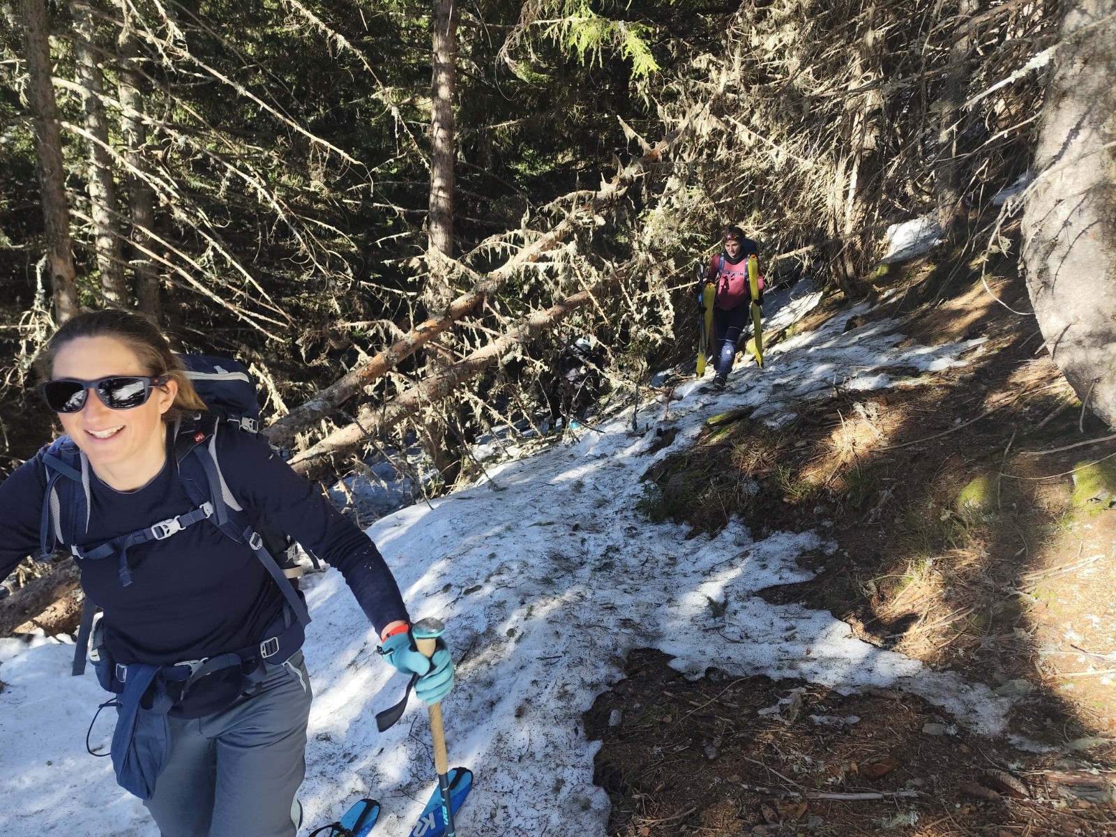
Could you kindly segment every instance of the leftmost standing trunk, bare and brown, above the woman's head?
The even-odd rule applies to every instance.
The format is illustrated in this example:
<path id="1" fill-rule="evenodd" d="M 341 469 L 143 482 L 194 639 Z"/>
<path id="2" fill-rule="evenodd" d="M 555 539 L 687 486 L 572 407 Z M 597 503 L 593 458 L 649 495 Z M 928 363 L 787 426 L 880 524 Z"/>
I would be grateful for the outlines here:
<path id="1" fill-rule="evenodd" d="M 65 323 L 78 311 L 74 271 L 74 246 L 69 237 L 66 204 L 66 169 L 58 129 L 55 88 L 51 86 L 50 31 L 46 0 L 22 0 L 23 50 L 27 57 L 27 102 L 35 129 L 42 194 L 42 225 L 50 269 L 55 319 Z"/>

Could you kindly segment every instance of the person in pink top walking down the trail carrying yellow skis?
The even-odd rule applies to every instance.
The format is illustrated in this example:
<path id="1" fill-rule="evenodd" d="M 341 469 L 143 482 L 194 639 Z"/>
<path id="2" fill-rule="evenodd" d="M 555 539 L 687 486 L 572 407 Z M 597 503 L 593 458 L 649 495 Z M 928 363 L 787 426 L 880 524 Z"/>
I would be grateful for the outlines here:
<path id="1" fill-rule="evenodd" d="M 705 311 L 705 289 L 713 286 L 713 341 L 712 356 L 715 375 L 713 388 L 724 389 L 737 358 L 737 345 L 748 328 L 749 309 L 754 301 L 763 302 L 763 277 L 758 278 L 758 298 L 752 299 L 749 288 L 749 257 L 759 257 L 759 247 L 744 235 L 739 227 L 727 227 L 722 234 L 722 250 L 709 260 L 699 276 L 696 297 L 699 309 Z M 704 348 L 700 352 L 704 355 Z M 699 358 L 699 366 L 704 367 Z"/>

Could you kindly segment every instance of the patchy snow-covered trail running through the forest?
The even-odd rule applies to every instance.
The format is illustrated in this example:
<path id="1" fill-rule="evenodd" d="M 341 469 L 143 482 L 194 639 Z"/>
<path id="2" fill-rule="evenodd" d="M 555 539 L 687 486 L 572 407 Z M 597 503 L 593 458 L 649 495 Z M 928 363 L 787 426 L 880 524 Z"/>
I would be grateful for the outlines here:
<path id="1" fill-rule="evenodd" d="M 812 297 L 776 319 L 800 316 Z M 849 312 L 849 316 L 858 311 Z M 943 368 L 979 341 L 897 348 L 887 324 L 841 334 L 847 316 L 795 336 L 768 353 L 768 368 L 738 369 L 733 388 L 702 394 L 679 388 L 668 424 L 679 433 L 648 453 L 661 404 L 631 411 L 576 442 L 489 469 L 491 482 L 379 520 L 369 535 L 391 564 L 415 618 L 436 615 L 460 662 L 444 704 L 450 760 L 472 768 L 474 790 L 460 833 L 517 837 L 604 835 L 605 792 L 593 785 L 598 744 L 585 739 L 581 713 L 622 674 L 635 647 L 675 657 L 701 674 L 715 665 L 733 675 L 766 673 L 855 687 L 903 687 L 923 694 L 985 732 L 1002 725 L 1004 699 L 953 675 L 850 636 L 828 613 L 771 605 L 754 594 L 805 580 L 796 557 L 834 548 L 815 532 L 777 532 L 753 541 L 733 525 L 715 538 L 653 525 L 635 511 L 639 475 L 690 444 L 711 414 L 758 405 L 783 421 L 788 405 L 833 386 L 872 389 L 889 383 L 884 367 Z M 773 324 L 777 325 L 777 324 Z M 335 819 L 359 796 L 384 805 L 375 834 L 406 835 L 433 787 L 425 711 L 413 702 L 403 720 L 377 734 L 374 715 L 394 703 L 402 677 L 389 679 L 376 638 L 337 573 L 306 586 L 315 622 L 306 653 L 317 694 L 310 716 L 306 825 Z M 714 617 L 709 599 L 728 609 Z M 85 730 L 103 700 L 92 674 L 69 677 L 70 648 L 52 642 L 0 642 L 0 808 L 2 834 L 73 837 L 154 835 L 142 806 L 116 788 L 112 768 L 84 751 Z M 107 749 L 108 723 L 94 745 Z"/>

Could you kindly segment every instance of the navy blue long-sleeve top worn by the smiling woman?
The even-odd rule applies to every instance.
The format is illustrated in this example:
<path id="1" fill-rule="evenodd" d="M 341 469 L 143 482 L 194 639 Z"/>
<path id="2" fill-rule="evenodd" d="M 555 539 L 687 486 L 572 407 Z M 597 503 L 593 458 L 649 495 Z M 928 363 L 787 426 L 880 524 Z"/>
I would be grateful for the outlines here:
<path id="1" fill-rule="evenodd" d="M 121 492 L 94 474 L 89 528 L 96 545 L 194 509 L 169 452 L 146 485 Z M 39 551 L 46 491 L 40 451 L 0 484 L 0 579 Z M 248 433 L 218 434 L 217 459 L 229 489 L 253 523 L 261 517 L 340 570 L 377 631 L 408 620 L 391 570 L 372 540 L 271 448 Z M 78 489 L 80 490 L 80 489 Z M 170 665 L 237 651 L 264 638 L 281 615 L 276 581 L 244 543 L 209 520 L 165 540 L 132 547 L 132 584 L 118 559 L 79 560 L 81 587 L 104 610 L 105 645 L 122 663 Z"/>

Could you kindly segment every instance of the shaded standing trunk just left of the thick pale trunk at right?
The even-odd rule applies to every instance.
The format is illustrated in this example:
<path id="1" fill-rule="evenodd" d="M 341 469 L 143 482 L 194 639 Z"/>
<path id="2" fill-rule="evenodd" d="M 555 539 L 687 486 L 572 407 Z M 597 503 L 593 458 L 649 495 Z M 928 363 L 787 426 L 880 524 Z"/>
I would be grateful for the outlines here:
<path id="1" fill-rule="evenodd" d="M 963 166 L 958 148 L 958 137 L 965 122 L 963 109 L 969 85 L 969 59 L 973 49 L 973 33 L 969 21 L 977 13 L 978 0 L 960 0 L 958 3 L 958 39 L 950 48 L 949 64 L 939 100 L 942 106 L 937 123 L 937 162 L 934 166 L 934 192 L 937 201 L 937 225 L 946 240 L 961 240 L 965 220 Z"/>

